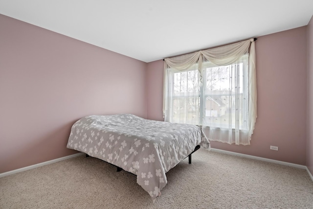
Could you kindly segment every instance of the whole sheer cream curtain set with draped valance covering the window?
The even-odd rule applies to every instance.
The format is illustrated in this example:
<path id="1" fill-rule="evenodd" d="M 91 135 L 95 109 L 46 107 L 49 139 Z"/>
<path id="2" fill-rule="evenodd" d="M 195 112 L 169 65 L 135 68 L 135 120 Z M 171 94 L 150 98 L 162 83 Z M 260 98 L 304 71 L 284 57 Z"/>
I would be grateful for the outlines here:
<path id="1" fill-rule="evenodd" d="M 165 121 L 202 125 L 210 140 L 250 143 L 257 117 L 253 39 L 164 61 Z"/>

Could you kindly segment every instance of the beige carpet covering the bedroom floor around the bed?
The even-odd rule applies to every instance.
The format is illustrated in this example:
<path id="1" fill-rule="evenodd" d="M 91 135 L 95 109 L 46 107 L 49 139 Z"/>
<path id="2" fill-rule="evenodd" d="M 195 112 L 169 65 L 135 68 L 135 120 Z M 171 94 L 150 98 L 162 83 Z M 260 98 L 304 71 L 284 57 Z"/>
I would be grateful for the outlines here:
<path id="1" fill-rule="evenodd" d="M 0 208 L 313 209 L 307 171 L 285 165 L 200 149 L 167 179 L 152 203 L 136 176 L 80 156 L 0 178 Z"/>

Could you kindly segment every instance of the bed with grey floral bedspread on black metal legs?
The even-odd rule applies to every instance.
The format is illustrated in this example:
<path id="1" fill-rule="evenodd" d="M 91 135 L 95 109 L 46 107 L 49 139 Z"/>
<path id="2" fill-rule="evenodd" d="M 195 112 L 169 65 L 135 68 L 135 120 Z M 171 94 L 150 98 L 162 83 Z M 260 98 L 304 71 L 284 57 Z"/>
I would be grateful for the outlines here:
<path id="1" fill-rule="evenodd" d="M 196 125 L 148 120 L 131 114 L 86 116 L 76 121 L 67 148 L 84 152 L 137 176 L 153 201 L 167 184 L 166 172 L 210 143 Z"/>

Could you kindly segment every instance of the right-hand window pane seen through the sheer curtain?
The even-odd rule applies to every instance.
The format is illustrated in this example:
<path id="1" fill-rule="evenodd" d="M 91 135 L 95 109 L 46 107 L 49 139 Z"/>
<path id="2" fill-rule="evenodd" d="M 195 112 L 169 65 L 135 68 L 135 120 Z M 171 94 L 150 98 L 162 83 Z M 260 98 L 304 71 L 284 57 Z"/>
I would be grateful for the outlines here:
<path id="1" fill-rule="evenodd" d="M 241 129 L 247 121 L 247 81 L 244 61 L 205 69 L 203 124 L 211 127 Z"/>

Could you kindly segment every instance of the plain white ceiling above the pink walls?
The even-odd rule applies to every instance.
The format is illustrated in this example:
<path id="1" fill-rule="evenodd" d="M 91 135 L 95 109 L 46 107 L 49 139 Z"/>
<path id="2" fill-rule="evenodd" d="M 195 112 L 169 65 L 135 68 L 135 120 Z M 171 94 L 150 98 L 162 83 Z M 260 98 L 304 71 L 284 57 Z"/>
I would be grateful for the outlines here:
<path id="1" fill-rule="evenodd" d="M 0 0 L 0 14 L 152 62 L 307 25 L 313 0 Z"/>

